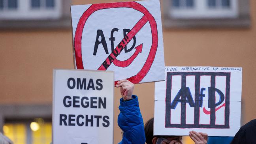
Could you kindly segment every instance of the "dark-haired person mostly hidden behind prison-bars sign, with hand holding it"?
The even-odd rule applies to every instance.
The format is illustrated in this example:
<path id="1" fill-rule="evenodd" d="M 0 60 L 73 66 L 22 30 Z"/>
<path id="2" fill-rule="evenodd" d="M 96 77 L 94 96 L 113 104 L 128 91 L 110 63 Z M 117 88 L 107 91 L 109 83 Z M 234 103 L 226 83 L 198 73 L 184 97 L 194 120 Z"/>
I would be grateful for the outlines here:
<path id="1" fill-rule="evenodd" d="M 145 124 L 145 134 L 147 144 L 183 144 L 182 136 L 154 136 L 153 135 L 154 118 L 151 118 Z M 198 133 L 196 131 L 190 131 L 189 137 L 195 142 L 195 144 L 207 144 L 207 133 Z"/>

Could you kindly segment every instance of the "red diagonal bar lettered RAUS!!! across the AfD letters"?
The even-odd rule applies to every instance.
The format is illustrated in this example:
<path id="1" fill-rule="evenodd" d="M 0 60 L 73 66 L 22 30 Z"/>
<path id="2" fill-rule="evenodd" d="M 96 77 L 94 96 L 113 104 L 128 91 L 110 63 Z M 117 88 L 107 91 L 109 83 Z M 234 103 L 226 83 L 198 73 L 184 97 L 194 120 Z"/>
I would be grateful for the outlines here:
<path id="1" fill-rule="evenodd" d="M 132 40 L 132 38 L 141 30 L 141 28 L 147 23 L 148 19 L 144 15 L 132 28 L 130 32 L 122 39 L 122 41 L 117 45 L 117 47 L 109 54 L 109 56 L 106 58 L 106 60 L 100 65 L 98 70 L 107 70 L 109 65 L 112 64 L 112 62 L 117 58 L 117 56 L 120 54 L 120 52 L 124 49 L 124 47 Z"/>

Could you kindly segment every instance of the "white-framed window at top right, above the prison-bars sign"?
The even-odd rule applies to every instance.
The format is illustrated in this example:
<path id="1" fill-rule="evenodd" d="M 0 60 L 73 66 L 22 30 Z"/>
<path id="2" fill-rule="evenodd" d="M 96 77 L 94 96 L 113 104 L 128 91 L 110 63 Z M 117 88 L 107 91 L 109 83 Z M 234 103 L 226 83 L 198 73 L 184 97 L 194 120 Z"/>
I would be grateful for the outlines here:
<path id="1" fill-rule="evenodd" d="M 235 18 L 237 0 L 174 0 L 169 13 L 176 19 Z"/>

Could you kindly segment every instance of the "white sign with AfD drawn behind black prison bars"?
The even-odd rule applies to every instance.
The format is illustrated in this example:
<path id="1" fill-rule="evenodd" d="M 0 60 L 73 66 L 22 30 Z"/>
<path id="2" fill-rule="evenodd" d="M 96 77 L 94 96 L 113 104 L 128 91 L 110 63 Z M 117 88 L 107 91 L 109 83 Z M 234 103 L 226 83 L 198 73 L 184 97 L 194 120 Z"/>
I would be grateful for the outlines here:
<path id="1" fill-rule="evenodd" d="M 242 68 L 166 67 L 155 83 L 154 135 L 234 136 L 240 128 Z"/>

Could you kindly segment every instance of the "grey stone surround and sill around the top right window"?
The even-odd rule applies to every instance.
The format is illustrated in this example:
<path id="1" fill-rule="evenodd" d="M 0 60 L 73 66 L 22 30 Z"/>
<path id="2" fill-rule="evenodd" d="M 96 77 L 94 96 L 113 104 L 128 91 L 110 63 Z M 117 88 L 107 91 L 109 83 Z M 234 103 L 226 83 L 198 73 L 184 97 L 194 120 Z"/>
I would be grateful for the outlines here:
<path id="1" fill-rule="evenodd" d="M 206 1 L 206 0 L 205 0 Z M 237 0 L 236 17 L 173 17 L 169 0 L 161 0 L 165 28 L 250 28 L 249 0 Z"/>

